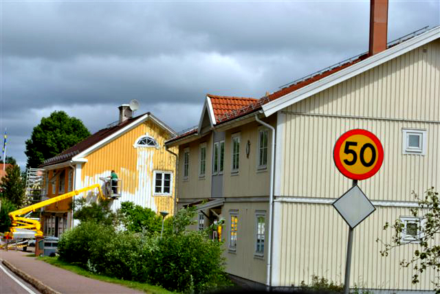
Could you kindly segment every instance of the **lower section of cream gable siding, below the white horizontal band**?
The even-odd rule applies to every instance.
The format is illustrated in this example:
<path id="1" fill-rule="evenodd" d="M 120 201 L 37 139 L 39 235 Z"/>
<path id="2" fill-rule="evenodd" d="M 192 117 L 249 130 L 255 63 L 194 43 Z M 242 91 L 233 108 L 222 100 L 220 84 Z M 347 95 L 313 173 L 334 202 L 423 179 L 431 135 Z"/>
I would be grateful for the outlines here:
<path id="1" fill-rule="evenodd" d="M 432 289 L 434 272 L 427 271 L 419 284 L 412 284 L 412 271 L 402 269 L 399 261 L 412 256 L 417 245 L 406 244 L 382 257 L 382 243 L 391 242 L 393 231 L 382 228 L 386 221 L 410 216 L 403 207 L 376 207 L 363 223 L 355 227 L 351 262 L 351 286 L 369 289 Z M 311 275 L 333 282 L 344 282 L 348 227 L 332 205 L 276 203 L 275 214 L 281 216 L 274 227 L 279 238 L 278 255 L 274 256 L 274 285 L 299 285 L 311 282 Z"/>

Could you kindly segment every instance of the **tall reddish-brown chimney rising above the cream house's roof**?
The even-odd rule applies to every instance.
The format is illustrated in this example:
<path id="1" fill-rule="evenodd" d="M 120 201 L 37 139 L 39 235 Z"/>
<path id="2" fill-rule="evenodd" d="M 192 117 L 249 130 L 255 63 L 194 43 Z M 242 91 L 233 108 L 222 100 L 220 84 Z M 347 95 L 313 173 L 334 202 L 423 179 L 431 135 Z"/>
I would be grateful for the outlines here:
<path id="1" fill-rule="evenodd" d="M 386 50 L 388 0 L 370 0 L 369 56 Z"/>

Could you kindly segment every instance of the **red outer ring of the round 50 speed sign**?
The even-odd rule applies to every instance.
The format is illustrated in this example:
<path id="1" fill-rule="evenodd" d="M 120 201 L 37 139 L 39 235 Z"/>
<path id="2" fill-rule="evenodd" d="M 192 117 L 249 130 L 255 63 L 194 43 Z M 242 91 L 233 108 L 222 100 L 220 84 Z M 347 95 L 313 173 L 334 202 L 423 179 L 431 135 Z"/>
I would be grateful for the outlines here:
<path id="1" fill-rule="evenodd" d="M 353 174 L 349 172 L 344 166 L 342 165 L 342 162 L 340 161 L 339 157 L 339 150 L 341 148 L 342 142 L 345 141 L 348 137 L 351 137 L 353 135 L 364 135 L 366 137 L 369 137 L 373 140 L 375 145 L 377 146 L 377 163 L 375 167 L 370 170 L 369 172 L 366 172 L 364 174 Z M 335 162 L 336 168 L 340 171 L 341 174 L 344 174 L 345 177 L 352 179 L 352 180 L 364 180 L 368 179 L 370 177 L 373 177 L 373 175 L 380 170 L 380 167 L 382 166 L 382 163 L 384 162 L 384 148 L 382 147 L 382 143 L 380 140 L 371 133 L 370 131 L 366 131 L 362 128 L 355 128 L 353 130 L 347 131 L 343 133 L 339 139 L 336 141 L 335 147 L 333 148 L 333 161 Z"/>

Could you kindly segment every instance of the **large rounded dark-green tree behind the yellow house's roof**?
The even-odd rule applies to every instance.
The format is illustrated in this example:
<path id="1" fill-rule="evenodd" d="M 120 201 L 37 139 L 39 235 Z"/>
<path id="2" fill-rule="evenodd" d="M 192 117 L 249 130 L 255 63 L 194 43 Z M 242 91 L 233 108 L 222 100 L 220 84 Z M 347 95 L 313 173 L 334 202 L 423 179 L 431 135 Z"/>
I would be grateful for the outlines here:
<path id="1" fill-rule="evenodd" d="M 58 155 L 89 135 L 89 130 L 76 117 L 69 117 L 64 111 L 54 111 L 41 119 L 30 139 L 26 140 L 27 167 L 39 166 L 45 159 Z"/>

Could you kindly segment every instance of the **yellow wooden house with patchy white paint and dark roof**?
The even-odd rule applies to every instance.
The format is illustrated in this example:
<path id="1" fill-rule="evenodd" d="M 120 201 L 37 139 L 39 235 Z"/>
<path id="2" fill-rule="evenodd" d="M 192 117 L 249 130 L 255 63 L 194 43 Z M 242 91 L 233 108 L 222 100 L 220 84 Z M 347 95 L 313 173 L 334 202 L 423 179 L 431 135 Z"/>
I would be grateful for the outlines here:
<path id="1" fill-rule="evenodd" d="M 166 149 L 164 142 L 175 132 L 151 113 L 133 117 L 128 104 L 119 106 L 119 111 L 118 122 L 44 161 L 43 195 L 52 198 L 99 183 L 113 199 L 113 211 L 122 201 L 132 201 L 173 214 L 177 148 Z M 118 174 L 116 191 L 109 189 L 112 170 Z M 45 207 L 41 213 L 45 236 L 60 236 L 74 225 L 71 203 L 67 199 Z"/>

